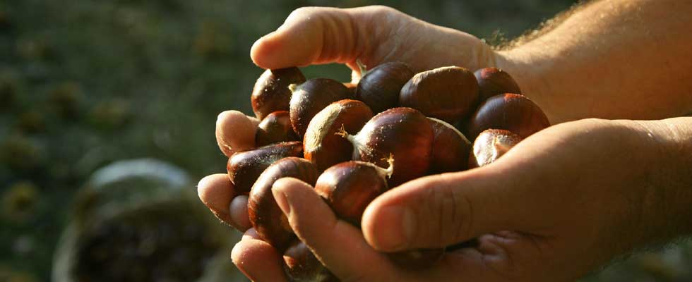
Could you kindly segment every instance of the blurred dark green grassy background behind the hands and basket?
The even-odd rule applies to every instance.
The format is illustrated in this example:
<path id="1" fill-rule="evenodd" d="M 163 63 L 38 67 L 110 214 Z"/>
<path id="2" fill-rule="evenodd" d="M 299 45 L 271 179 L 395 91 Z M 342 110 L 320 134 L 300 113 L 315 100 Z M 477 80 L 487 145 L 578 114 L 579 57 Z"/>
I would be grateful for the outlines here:
<path id="1" fill-rule="evenodd" d="M 97 168 L 160 159 L 191 176 L 192 192 L 197 179 L 225 171 L 216 116 L 251 114 L 249 94 L 262 70 L 249 49 L 295 8 L 383 4 L 498 42 L 574 3 L 0 1 L 0 281 L 50 279 L 59 234 Z M 303 71 L 350 79 L 344 66 Z M 690 250 L 640 255 L 587 280 L 692 281 Z"/>

